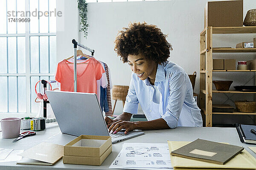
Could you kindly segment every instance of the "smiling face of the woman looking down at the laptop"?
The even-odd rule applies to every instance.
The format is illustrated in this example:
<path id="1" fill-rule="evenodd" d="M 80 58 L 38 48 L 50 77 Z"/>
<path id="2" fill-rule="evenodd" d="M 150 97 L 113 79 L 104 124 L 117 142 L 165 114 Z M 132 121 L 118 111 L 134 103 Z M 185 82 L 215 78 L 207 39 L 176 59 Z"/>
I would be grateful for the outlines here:
<path id="1" fill-rule="evenodd" d="M 145 80 L 148 77 L 155 79 L 157 64 L 153 60 L 146 60 L 141 54 L 139 55 L 128 55 L 128 65 L 141 80 Z"/>

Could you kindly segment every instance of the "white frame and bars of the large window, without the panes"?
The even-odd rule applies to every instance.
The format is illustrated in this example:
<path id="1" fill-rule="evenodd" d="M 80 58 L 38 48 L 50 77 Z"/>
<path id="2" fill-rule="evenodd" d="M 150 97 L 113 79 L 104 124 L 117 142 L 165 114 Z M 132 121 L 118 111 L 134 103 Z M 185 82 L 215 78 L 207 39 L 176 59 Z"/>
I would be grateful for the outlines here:
<path id="1" fill-rule="evenodd" d="M 29 11 L 29 0 L 25 0 L 25 11 Z M 38 10 L 39 10 L 39 0 L 38 0 Z M 17 0 L 16 0 L 16 11 L 17 11 Z M 48 11 L 49 11 L 49 0 L 48 0 Z M 30 18 L 30 17 L 29 17 Z M 37 77 L 41 77 L 41 76 L 48 76 L 48 77 L 52 77 L 55 75 L 55 73 L 50 73 L 50 69 L 48 73 L 31 73 L 30 72 L 30 61 L 31 61 L 31 56 L 30 56 L 30 37 L 32 36 L 48 36 L 48 43 L 49 43 L 49 38 L 50 36 L 56 36 L 56 32 L 54 33 L 50 33 L 49 32 L 49 17 L 48 17 L 48 33 L 40 33 L 39 31 L 40 29 L 40 20 L 38 21 L 38 33 L 30 33 L 30 23 L 26 22 L 25 23 L 25 33 L 23 34 L 17 34 L 17 22 L 16 22 L 16 34 L 8 34 L 8 16 L 7 16 L 7 0 L 6 0 L 6 34 L 0 34 L 0 37 L 7 37 L 6 43 L 8 44 L 8 37 L 25 37 L 25 68 L 26 68 L 26 72 L 25 73 L 18 73 L 18 70 L 16 71 L 16 73 L 9 73 L 9 70 L 7 68 L 7 73 L 0 73 L 0 77 L 7 77 L 7 89 L 9 91 L 9 85 L 8 85 L 8 79 L 10 76 L 13 77 L 17 77 L 17 81 L 18 81 L 18 77 L 26 77 L 26 112 L 18 112 L 18 107 L 17 107 L 17 112 L 9 112 L 9 94 L 7 94 L 7 112 L 0 112 L 1 116 L 36 116 L 37 113 L 31 113 L 31 94 L 34 93 L 33 91 L 31 91 L 32 89 L 32 84 L 30 83 L 31 81 L 31 77 L 33 76 L 37 76 Z M 39 50 L 40 50 L 40 42 L 38 43 L 39 45 Z M 7 51 L 6 51 L 6 56 L 7 56 L 7 64 L 8 64 L 8 45 L 7 47 Z M 16 41 L 16 48 L 17 48 L 17 41 Z M 50 49 L 50 44 L 48 44 L 48 50 Z M 17 53 L 16 53 L 17 55 Z M 39 51 L 39 55 L 40 55 L 40 51 Z M 16 56 L 17 57 L 17 56 Z M 48 58 L 50 61 L 50 51 L 48 53 Z M 18 64 L 18 63 L 17 63 Z M 39 60 L 39 65 L 40 65 L 40 60 Z M 17 89 L 19 87 L 17 86 Z M 7 92 L 8 93 L 8 92 Z M 35 95 L 36 97 L 36 95 Z M 17 105 L 18 105 L 18 101 L 17 101 Z"/>

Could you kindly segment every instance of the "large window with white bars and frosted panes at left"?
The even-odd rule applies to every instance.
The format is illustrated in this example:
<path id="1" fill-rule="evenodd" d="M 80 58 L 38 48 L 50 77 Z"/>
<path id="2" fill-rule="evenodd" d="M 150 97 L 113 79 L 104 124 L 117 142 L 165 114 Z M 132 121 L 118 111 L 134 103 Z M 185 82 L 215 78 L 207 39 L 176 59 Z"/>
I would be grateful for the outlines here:
<path id="1" fill-rule="evenodd" d="M 35 84 L 56 69 L 55 9 L 56 0 L 0 1 L 0 112 L 38 112 Z"/>

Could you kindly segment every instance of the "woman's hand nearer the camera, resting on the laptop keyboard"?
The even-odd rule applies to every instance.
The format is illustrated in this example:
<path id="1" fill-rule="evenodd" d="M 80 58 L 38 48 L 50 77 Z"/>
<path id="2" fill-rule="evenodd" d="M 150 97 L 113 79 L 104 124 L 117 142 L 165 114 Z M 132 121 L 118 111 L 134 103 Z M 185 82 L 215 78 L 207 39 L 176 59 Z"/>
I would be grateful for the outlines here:
<path id="1" fill-rule="evenodd" d="M 125 134 L 128 133 L 128 131 L 136 129 L 136 122 L 130 122 L 130 121 L 124 121 L 119 120 L 116 122 L 112 122 L 112 125 L 108 128 L 108 131 L 110 133 L 117 133 L 122 129 L 125 129 Z"/>

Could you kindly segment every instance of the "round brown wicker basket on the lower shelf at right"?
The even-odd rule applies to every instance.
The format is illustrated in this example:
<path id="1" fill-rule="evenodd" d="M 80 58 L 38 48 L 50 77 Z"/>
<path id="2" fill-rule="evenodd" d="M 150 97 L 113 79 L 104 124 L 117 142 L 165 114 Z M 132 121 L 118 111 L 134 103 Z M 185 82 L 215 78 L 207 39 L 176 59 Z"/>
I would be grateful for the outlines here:
<path id="1" fill-rule="evenodd" d="M 236 109 L 239 112 L 253 113 L 256 112 L 256 102 L 235 101 Z"/>

